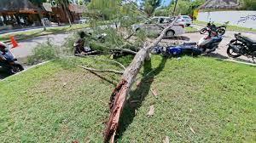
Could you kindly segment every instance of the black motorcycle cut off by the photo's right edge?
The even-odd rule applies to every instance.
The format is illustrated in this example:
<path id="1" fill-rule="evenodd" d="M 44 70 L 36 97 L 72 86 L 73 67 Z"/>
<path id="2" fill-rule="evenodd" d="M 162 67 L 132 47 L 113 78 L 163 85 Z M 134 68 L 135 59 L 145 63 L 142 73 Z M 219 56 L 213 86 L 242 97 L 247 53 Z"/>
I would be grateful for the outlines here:
<path id="1" fill-rule="evenodd" d="M 227 49 L 227 54 L 232 58 L 241 55 L 256 57 L 256 41 L 249 37 L 242 36 L 241 33 L 235 34 L 236 39 L 232 39 Z"/>

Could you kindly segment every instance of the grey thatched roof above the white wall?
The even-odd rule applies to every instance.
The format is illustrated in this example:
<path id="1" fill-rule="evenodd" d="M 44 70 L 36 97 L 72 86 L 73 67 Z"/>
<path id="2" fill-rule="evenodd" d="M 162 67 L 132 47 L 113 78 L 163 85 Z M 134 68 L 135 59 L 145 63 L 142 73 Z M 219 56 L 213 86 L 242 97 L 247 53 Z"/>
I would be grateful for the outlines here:
<path id="1" fill-rule="evenodd" d="M 199 9 L 240 9 L 240 0 L 208 0 Z"/>

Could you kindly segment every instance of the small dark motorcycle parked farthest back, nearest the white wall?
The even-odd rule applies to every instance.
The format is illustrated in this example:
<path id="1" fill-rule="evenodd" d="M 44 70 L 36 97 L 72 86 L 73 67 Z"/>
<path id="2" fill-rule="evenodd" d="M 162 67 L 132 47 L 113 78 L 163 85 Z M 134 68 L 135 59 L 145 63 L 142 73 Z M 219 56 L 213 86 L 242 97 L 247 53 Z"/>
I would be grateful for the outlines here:
<path id="1" fill-rule="evenodd" d="M 206 33 L 206 32 L 207 32 L 207 28 L 209 28 L 209 29 L 211 29 L 212 31 L 216 31 L 216 32 L 218 33 L 218 35 L 223 36 L 223 35 L 225 34 L 225 32 L 226 32 L 226 29 L 227 29 L 227 23 L 228 23 L 228 22 L 225 22 L 225 24 L 224 24 L 223 26 L 215 26 L 215 25 L 213 24 L 213 22 L 212 22 L 212 23 L 209 22 L 209 23 L 207 23 L 207 27 L 204 27 L 204 28 L 202 28 L 202 29 L 200 30 L 200 33 L 201 33 L 201 34 Z"/>

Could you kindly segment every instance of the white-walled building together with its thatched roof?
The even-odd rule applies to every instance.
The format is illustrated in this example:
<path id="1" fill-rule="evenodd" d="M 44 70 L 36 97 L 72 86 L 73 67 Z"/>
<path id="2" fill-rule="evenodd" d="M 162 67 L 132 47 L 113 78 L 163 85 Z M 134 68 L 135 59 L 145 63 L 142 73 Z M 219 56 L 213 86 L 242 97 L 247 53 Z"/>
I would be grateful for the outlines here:
<path id="1" fill-rule="evenodd" d="M 256 29 L 256 11 L 243 8 L 241 0 L 208 0 L 199 8 L 197 20 Z"/>

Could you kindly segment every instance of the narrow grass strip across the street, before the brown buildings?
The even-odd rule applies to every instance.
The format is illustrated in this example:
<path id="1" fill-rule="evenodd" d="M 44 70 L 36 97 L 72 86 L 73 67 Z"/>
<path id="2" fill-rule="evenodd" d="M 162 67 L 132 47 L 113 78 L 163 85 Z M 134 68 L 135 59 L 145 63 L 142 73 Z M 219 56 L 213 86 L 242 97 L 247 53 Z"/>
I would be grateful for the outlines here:
<path id="1" fill-rule="evenodd" d="M 20 31 L 17 33 L 7 33 L 7 34 L 2 34 L 0 36 L 0 41 L 9 40 L 10 36 L 15 36 L 16 39 L 23 39 L 27 37 L 38 37 L 45 34 L 54 34 L 62 31 L 73 31 L 73 30 L 86 28 L 88 26 L 89 25 L 87 24 L 76 24 L 76 25 L 72 25 L 72 27 L 69 27 L 69 26 L 47 27 L 46 31 L 43 31 L 42 29 L 38 29 L 33 31 Z"/>

